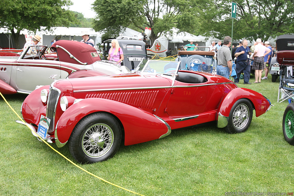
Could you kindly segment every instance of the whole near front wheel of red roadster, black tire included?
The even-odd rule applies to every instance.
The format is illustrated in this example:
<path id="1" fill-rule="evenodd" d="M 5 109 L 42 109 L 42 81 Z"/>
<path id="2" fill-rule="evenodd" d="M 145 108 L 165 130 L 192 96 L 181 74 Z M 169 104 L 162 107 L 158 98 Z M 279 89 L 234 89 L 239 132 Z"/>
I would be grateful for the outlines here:
<path id="1" fill-rule="evenodd" d="M 69 138 L 69 151 L 79 163 L 95 163 L 112 158 L 121 143 L 121 127 L 108 113 L 92 113 L 82 118 Z"/>

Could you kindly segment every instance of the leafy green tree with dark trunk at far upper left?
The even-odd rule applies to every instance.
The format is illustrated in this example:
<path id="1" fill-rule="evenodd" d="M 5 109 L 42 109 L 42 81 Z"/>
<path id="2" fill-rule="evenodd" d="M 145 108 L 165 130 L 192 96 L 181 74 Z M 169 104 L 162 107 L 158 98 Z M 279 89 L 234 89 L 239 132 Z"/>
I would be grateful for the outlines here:
<path id="1" fill-rule="evenodd" d="M 15 47 L 20 48 L 18 40 L 23 29 L 35 32 L 41 26 L 50 30 L 54 26 L 70 26 L 77 22 L 74 14 L 65 9 L 70 5 L 70 0 L 1 0 L 0 27 L 11 30 Z"/>

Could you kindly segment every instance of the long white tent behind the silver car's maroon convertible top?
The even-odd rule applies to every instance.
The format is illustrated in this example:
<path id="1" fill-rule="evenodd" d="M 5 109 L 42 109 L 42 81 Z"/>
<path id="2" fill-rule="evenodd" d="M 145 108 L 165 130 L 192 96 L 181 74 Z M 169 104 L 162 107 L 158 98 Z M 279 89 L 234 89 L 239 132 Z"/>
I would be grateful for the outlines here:
<path id="1" fill-rule="evenodd" d="M 55 40 L 82 40 L 82 31 L 87 31 L 90 38 L 94 40 L 94 45 L 101 43 L 101 33 L 94 31 L 91 28 L 78 28 L 78 27 L 53 27 L 52 31 L 44 30 L 45 27 L 41 27 L 41 31 L 37 31 L 36 34 L 41 36 L 43 45 L 51 46 L 51 41 Z"/>

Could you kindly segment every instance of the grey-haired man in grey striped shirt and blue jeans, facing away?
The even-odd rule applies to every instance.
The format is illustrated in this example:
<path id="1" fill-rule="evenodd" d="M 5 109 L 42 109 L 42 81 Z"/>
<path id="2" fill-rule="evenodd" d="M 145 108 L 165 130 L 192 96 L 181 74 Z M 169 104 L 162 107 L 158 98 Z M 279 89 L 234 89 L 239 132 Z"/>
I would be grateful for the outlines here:
<path id="1" fill-rule="evenodd" d="M 232 73 L 232 55 L 229 46 L 231 45 L 232 38 L 225 36 L 223 46 L 218 50 L 218 65 L 216 74 L 229 78 Z"/>

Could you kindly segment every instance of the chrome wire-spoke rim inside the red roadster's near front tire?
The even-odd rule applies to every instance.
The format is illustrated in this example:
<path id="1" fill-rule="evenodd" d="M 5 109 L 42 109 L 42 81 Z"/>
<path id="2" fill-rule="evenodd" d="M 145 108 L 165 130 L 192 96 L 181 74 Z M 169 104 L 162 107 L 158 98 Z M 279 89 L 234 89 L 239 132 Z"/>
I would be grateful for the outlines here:
<path id="1" fill-rule="evenodd" d="M 104 123 L 98 123 L 83 135 L 83 151 L 93 158 L 105 155 L 113 144 L 113 130 Z"/>

